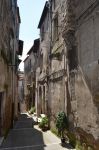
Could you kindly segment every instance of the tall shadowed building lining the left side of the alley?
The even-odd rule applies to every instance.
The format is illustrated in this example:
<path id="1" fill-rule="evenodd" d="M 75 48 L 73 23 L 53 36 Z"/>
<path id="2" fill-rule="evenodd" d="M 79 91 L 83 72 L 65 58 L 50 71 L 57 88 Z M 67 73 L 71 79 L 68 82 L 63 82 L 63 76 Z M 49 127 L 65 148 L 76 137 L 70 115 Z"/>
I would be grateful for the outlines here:
<path id="1" fill-rule="evenodd" d="M 0 1 L 0 136 L 17 116 L 20 14 L 17 1 Z"/>

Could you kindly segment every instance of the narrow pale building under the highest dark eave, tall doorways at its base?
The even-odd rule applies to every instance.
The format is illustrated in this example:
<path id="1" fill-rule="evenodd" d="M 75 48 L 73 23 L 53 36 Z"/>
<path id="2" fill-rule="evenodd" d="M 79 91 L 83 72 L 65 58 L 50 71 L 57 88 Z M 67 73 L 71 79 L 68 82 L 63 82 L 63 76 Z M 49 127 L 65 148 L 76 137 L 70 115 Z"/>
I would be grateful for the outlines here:
<path id="1" fill-rule="evenodd" d="M 50 22 L 49 22 L 49 4 L 45 3 L 38 28 L 40 29 L 40 48 L 39 48 L 39 68 L 38 72 L 38 98 L 37 114 L 46 113 L 48 110 L 48 69 L 50 52 Z"/>

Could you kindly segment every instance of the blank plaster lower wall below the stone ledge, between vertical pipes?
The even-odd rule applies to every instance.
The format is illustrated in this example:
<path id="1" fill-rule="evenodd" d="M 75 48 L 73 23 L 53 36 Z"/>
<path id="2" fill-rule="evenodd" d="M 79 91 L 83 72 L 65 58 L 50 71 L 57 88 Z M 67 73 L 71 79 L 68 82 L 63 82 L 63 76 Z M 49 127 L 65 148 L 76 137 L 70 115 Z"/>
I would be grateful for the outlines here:
<path id="1" fill-rule="evenodd" d="M 57 82 L 50 83 L 50 113 L 51 113 L 51 127 L 55 127 L 56 114 L 60 111 L 65 111 L 65 89 L 64 89 L 64 79 L 61 78 Z"/>

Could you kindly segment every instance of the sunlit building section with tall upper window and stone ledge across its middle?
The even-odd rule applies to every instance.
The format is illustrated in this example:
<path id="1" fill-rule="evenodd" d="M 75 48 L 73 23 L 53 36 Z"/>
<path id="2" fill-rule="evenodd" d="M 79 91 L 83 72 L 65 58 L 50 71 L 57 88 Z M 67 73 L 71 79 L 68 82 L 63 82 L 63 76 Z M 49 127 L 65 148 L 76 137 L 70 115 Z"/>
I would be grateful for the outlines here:
<path id="1" fill-rule="evenodd" d="M 66 56 L 62 37 L 62 1 L 50 4 L 50 69 L 49 69 L 49 115 L 51 127 L 55 126 L 56 114 L 66 112 Z"/>

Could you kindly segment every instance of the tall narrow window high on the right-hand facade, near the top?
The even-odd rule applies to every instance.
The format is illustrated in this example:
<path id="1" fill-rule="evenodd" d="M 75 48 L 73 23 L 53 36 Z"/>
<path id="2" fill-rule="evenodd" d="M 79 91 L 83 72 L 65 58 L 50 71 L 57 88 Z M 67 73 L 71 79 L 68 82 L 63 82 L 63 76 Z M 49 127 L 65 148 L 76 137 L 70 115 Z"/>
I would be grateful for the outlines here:
<path id="1" fill-rule="evenodd" d="M 54 18 L 53 39 L 54 41 L 58 39 L 58 15 Z"/>

